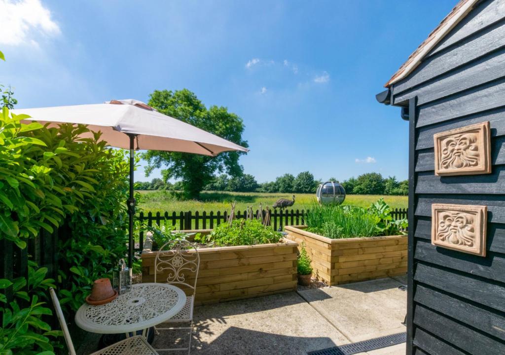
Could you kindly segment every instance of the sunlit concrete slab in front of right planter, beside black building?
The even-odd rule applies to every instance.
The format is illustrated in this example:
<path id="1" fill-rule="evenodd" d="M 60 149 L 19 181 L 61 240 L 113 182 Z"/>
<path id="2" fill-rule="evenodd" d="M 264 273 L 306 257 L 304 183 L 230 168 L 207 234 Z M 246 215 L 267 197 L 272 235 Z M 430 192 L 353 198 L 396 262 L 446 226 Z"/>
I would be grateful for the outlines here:
<path id="1" fill-rule="evenodd" d="M 350 342 L 405 332 L 407 292 L 401 282 L 384 278 L 299 291 Z"/>

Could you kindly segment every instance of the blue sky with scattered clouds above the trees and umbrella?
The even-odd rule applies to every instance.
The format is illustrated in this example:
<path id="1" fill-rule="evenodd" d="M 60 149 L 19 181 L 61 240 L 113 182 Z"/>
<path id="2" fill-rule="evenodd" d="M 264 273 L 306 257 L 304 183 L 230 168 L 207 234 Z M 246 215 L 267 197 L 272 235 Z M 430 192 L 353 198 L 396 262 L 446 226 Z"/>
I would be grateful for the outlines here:
<path id="1" fill-rule="evenodd" d="M 0 83 L 17 108 L 188 88 L 242 117 L 259 182 L 407 179 L 408 124 L 375 94 L 455 4 L 0 0 Z"/>

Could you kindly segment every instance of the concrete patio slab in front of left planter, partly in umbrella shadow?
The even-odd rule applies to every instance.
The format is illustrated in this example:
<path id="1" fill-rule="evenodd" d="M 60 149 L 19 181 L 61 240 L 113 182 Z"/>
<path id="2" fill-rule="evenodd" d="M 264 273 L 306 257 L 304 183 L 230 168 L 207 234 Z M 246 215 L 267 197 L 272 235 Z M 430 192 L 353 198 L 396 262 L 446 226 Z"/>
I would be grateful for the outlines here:
<path id="1" fill-rule="evenodd" d="M 154 347 L 172 346 L 160 335 Z M 297 293 L 195 308 L 192 354 L 306 354 L 348 343 Z"/>

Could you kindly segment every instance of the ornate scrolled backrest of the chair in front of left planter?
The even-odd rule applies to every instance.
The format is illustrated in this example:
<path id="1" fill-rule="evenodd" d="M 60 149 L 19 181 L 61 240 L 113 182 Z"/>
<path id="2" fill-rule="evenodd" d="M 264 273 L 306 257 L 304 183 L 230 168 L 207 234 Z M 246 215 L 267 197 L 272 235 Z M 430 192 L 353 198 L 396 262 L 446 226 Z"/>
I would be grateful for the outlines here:
<path id="1" fill-rule="evenodd" d="M 200 256 L 194 244 L 185 239 L 171 240 L 156 254 L 155 282 L 159 282 L 158 274 L 163 274 L 162 282 L 187 286 L 194 295 L 199 267 Z"/>

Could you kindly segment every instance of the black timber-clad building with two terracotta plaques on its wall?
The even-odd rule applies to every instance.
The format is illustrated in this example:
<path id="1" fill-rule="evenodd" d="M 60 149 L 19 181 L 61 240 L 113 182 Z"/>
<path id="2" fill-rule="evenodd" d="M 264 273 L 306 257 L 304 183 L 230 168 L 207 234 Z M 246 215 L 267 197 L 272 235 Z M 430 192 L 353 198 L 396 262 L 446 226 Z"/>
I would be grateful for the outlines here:
<path id="1" fill-rule="evenodd" d="M 410 125 L 407 353 L 505 354 L 505 0 L 461 1 L 385 86 Z"/>

